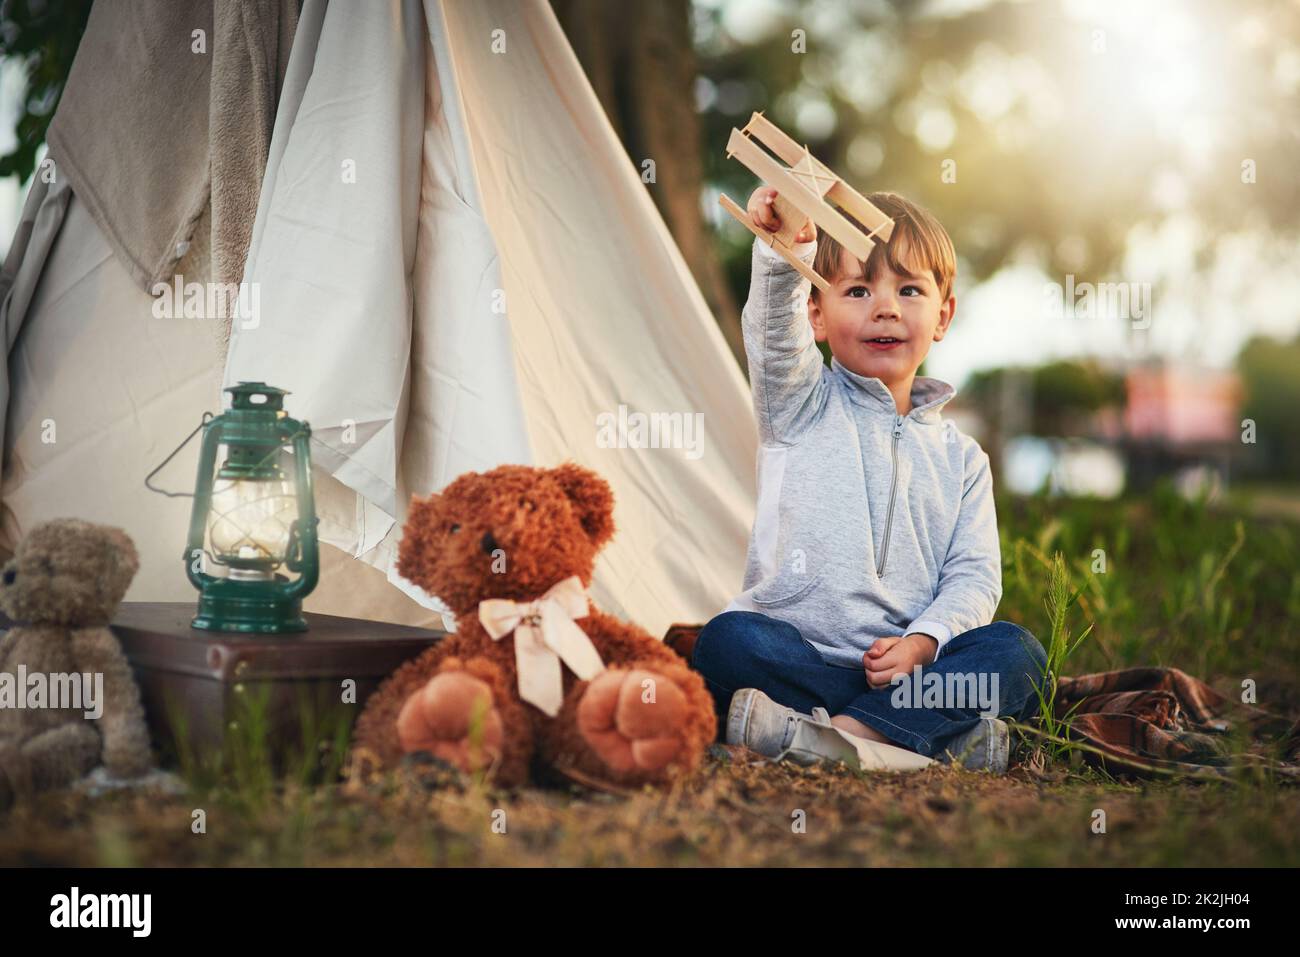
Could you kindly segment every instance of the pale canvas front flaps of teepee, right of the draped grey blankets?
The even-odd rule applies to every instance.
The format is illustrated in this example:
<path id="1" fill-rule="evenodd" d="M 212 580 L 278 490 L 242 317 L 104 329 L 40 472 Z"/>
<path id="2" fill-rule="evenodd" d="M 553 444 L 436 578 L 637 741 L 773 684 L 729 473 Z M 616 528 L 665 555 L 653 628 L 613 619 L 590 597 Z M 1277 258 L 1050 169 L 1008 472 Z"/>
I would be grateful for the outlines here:
<path id="1" fill-rule="evenodd" d="M 618 499 L 598 599 L 653 631 L 706 616 L 750 520 L 740 371 L 549 5 L 426 3 L 428 56 L 417 13 L 330 5 L 295 44 L 246 274 L 261 317 L 226 381 L 294 391 L 337 480 L 325 540 L 398 585 L 410 494 L 573 459 Z M 356 62 L 382 66 L 358 85 Z M 620 408 L 702 420 L 702 442 L 603 447 Z"/>

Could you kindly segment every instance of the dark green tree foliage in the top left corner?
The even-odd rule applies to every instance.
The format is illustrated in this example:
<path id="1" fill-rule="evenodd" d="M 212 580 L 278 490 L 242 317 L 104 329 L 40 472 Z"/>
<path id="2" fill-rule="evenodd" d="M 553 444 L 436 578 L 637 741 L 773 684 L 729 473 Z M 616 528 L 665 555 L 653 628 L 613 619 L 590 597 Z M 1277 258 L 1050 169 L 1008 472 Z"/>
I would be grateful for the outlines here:
<path id="1" fill-rule="evenodd" d="M 14 148 L 0 156 L 0 177 L 26 182 L 36 168 L 77 46 L 86 31 L 90 0 L 0 0 L 0 59 L 26 66 L 26 90 Z"/>

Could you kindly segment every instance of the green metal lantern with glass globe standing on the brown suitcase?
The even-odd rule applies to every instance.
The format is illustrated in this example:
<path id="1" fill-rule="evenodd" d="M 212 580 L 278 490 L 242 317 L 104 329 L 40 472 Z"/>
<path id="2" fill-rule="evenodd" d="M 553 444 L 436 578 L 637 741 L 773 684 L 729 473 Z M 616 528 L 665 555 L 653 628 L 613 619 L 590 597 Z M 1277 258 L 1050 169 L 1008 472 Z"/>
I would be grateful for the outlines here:
<path id="1" fill-rule="evenodd" d="M 218 632 L 306 631 L 303 598 L 320 576 L 311 428 L 285 412 L 283 389 L 240 382 L 226 391 L 230 408 L 202 426 L 185 547 L 186 573 L 199 589 L 191 624 Z M 217 469 L 221 446 L 226 458 Z M 224 576 L 203 570 L 205 554 Z"/>

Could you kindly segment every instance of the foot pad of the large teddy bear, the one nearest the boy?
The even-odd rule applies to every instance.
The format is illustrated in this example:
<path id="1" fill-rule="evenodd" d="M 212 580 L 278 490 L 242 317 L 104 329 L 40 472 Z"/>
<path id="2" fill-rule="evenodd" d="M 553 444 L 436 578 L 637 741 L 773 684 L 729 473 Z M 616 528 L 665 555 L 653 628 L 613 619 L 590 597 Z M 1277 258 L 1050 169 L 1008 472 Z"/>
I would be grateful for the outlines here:
<path id="1" fill-rule="evenodd" d="M 686 696 L 649 668 L 602 671 L 577 706 L 578 732 L 621 774 L 663 771 L 682 749 L 685 719 Z"/>

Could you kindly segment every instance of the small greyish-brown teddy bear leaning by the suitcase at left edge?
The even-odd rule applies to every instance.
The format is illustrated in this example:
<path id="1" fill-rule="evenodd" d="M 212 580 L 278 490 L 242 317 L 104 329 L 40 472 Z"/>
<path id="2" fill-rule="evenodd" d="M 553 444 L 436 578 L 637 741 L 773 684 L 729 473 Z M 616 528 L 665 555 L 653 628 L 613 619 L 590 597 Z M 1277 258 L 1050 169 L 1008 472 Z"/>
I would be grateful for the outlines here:
<path id="1" fill-rule="evenodd" d="M 78 519 L 38 525 L 5 563 L 0 607 L 22 624 L 0 636 L 0 683 L 8 685 L 0 688 L 0 807 L 73 784 L 100 763 L 117 778 L 152 767 L 139 689 L 108 629 L 138 568 L 125 532 Z M 55 694 L 55 675 L 92 676 L 79 707 L 53 706 L 68 703 Z M 30 697 L 38 683 L 43 702 Z M 96 690 L 92 709 L 86 696 Z M 5 693 L 29 697 L 20 707 Z M 87 718 L 88 710 L 100 716 Z"/>

